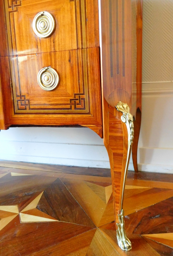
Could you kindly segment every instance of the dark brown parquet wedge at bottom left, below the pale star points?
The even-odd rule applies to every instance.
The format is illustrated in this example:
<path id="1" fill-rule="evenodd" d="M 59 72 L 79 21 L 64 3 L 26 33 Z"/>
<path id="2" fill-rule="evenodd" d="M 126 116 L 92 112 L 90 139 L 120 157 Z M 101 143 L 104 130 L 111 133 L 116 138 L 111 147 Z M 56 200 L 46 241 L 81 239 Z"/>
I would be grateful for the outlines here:
<path id="1" fill-rule="evenodd" d="M 48 251 L 49 246 L 57 245 L 89 230 L 91 228 L 86 226 L 64 222 L 22 223 L 14 225 L 14 228 L 11 228 L 8 233 L 1 236 L 1 253 L 5 256 L 18 256 L 30 255 L 40 250 Z M 63 236 L 61 235 L 62 233 Z"/>

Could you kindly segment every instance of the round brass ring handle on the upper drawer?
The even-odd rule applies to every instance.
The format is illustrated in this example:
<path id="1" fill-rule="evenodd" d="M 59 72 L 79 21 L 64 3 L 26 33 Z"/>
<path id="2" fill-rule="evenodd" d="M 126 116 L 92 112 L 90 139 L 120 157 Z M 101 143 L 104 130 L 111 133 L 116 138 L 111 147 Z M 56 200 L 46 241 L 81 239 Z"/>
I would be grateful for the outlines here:
<path id="1" fill-rule="evenodd" d="M 39 12 L 33 20 L 33 30 L 39 37 L 50 36 L 55 28 L 55 20 L 50 12 Z"/>

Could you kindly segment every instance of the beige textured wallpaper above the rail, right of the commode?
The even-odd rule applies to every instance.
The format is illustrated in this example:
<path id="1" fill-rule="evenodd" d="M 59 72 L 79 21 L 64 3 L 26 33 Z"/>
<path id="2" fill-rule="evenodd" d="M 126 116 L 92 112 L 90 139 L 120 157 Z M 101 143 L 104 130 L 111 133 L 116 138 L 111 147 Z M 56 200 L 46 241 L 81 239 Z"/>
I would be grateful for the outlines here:
<path id="1" fill-rule="evenodd" d="M 143 82 L 173 81 L 173 0 L 143 2 Z"/>

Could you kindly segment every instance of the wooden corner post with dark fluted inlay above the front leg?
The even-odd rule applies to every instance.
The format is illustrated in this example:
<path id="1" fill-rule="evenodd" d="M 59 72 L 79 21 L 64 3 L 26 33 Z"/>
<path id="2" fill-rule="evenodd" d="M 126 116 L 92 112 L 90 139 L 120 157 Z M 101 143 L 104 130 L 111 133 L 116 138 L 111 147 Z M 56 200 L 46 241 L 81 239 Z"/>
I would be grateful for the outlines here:
<path id="1" fill-rule="evenodd" d="M 100 6 L 103 96 L 112 107 L 122 101 L 131 109 L 131 1 L 101 0 Z"/>

